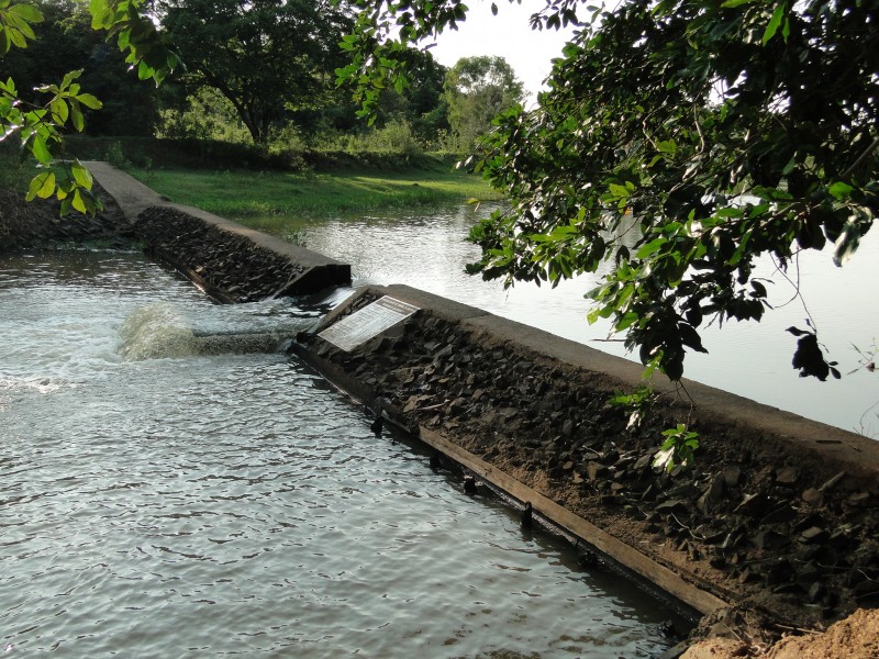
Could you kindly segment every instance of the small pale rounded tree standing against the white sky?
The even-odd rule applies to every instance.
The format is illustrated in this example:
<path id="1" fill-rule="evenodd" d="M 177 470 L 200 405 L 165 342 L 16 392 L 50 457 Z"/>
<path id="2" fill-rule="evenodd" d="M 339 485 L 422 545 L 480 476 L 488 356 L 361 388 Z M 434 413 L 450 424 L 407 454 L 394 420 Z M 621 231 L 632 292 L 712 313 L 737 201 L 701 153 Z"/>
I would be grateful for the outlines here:
<path id="1" fill-rule="evenodd" d="M 460 149 L 471 150 L 491 130 L 491 121 L 520 103 L 524 90 L 503 57 L 463 57 L 448 71 L 443 98 Z"/>

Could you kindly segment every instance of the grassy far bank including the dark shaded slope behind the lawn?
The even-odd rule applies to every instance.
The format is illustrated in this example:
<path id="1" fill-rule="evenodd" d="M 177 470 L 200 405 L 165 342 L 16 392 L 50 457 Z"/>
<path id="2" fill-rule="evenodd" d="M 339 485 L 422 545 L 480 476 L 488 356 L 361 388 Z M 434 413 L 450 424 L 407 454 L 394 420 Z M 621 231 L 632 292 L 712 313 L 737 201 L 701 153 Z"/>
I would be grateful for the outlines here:
<path id="1" fill-rule="evenodd" d="M 260 159 L 251 146 L 190 142 L 77 137 L 68 148 L 80 159 L 109 160 L 171 201 L 274 233 L 302 220 L 500 200 L 449 156 L 314 152 L 293 167 Z M 2 169 L 7 185 L 26 190 L 32 169 Z"/>

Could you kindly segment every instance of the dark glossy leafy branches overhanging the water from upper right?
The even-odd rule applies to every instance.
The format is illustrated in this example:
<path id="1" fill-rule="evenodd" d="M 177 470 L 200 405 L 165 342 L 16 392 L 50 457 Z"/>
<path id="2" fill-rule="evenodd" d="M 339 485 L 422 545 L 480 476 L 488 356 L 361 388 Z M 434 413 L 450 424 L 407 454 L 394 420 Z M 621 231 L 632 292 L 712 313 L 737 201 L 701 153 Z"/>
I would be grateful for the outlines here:
<path id="1" fill-rule="evenodd" d="M 577 22 L 579 4 L 550 0 L 532 23 Z M 344 72 L 366 112 L 371 87 L 403 75 L 398 54 L 466 15 L 459 0 L 357 5 Z M 705 322 L 768 309 L 757 257 L 787 268 L 832 243 L 842 265 L 872 225 L 879 2 L 631 0 L 586 14 L 539 107 L 496 120 L 470 160 L 513 202 L 474 228 L 470 270 L 555 284 L 611 261 L 590 319 L 612 319 L 648 370 L 678 380 Z M 800 375 L 838 377 L 814 328 L 791 330 Z"/>

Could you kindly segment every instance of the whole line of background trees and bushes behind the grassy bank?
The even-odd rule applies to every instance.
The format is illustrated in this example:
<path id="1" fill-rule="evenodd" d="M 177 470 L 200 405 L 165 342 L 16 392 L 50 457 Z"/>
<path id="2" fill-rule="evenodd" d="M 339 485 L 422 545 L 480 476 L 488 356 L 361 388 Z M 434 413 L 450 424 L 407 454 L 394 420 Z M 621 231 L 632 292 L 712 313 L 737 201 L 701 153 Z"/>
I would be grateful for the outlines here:
<path id="1" fill-rule="evenodd" d="M 319 150 L 461 154 L 499 111 L 522 100 L 502 58 L 465 58 L 448 69 L 430 52 L 412 51 L 408 86 L 382 90 L 367 124 L 351 89 L 336 82 L 354 24 L 344 2 L 158 2 L 154 20 L 183 63 L 159 87 L 129 70 L 116 46 L 90 29 L 81 2 L 35 4 L 45 19 L 34 25 L 36 38 L 0 59 L 0 78 L 14 77 L 22 98 L 40 102 L 41 86 L 82 69 L 82 89 L 103 103 L 87 113 L 91 136 L 252 144 L 265 165 L 285 167 Z"/>

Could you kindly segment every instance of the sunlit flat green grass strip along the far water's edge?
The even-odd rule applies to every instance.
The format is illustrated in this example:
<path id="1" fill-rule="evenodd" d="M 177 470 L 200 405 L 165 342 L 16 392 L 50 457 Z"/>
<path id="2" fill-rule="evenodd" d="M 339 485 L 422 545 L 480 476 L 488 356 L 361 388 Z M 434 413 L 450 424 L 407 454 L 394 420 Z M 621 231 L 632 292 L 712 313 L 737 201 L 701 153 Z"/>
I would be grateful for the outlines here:
<path id="1" fill-rule="evenodd" d="M 174 202 L 262 227 L 282 224 L 285 219 L 352 216 L 500 199 L 478 176 L 439 161 L 433 167 L 391 172 L 129 171 Z"/>

